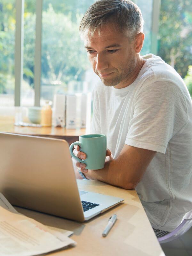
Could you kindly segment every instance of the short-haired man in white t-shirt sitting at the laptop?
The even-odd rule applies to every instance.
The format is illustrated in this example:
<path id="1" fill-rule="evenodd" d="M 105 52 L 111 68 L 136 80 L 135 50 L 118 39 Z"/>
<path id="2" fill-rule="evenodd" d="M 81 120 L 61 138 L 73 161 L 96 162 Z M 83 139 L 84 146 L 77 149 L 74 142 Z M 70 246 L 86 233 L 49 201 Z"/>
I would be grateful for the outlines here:
<path id="1" fill-rule="evenodd" d="M 106 134 L 109 150 L 101 170 L 76 162 L 76 177 L 136 189 L 152 227 L 172 231 L 192 209 L 192 103 L 186 85 L 160 57 L 140 56 L 143 18 L 131 1 L 95 2 L 80 32 L 101 79 L 93 92 L 92 133 Z M 86 158 L 78 146 L 74 154 Z"/>

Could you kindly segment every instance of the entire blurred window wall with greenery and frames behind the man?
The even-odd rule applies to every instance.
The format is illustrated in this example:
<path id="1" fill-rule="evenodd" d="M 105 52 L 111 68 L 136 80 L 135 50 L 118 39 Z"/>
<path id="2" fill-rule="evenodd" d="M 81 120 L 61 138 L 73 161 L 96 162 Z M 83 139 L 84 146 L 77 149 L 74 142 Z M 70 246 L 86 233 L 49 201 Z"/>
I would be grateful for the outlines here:
<path id="1" fill-rule="evenodd" d="M 40 106 L 55 93 L 92 91 L 98 77 L 78 27 L 94 2 L 0 0 L 0 107 Z M 133 2 L 145 20 L 141 55 L 159 55 L 180 74 L 192 95 L 191 0 Z"/>

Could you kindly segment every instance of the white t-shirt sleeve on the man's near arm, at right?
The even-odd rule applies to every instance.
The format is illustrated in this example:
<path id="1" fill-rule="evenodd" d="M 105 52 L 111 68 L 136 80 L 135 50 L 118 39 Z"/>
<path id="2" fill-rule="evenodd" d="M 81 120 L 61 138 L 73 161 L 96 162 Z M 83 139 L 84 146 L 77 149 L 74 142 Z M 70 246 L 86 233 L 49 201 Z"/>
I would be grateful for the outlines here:
<path id="1" fill-rule="evenodd" d="M 186 101 L 176 84 L 148 84 L 135 97 L 125 144 L 165 154 L 169 140 L 187 121 Z"/>

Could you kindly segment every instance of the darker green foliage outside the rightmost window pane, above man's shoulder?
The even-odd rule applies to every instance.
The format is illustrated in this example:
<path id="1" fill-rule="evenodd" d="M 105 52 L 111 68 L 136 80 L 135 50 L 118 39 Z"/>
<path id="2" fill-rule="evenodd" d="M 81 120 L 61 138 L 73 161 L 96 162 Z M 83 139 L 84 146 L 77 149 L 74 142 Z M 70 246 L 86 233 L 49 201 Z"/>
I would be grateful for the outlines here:
<path id="1" fill-rule="evenodd" d="M 192 65 L 191 0 L 161 0 L 158 55 L 184 78 Z"/>

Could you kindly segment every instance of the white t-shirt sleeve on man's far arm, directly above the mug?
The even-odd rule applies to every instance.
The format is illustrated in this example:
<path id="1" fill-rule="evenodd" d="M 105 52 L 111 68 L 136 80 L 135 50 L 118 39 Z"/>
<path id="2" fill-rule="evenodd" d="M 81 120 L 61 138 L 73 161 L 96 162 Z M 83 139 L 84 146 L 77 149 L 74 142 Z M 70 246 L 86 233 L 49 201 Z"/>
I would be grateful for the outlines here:
<path id="1" fill-rule="evenodd" d="M 93 90 L 92 93 L 92 106 L 93 106 L 93 116 L 91 121 L 91 133 L 99 133 L 101 134 L 100 127 L 100 111 L 99 111 L 99 99 L 96 89 Z"/>

